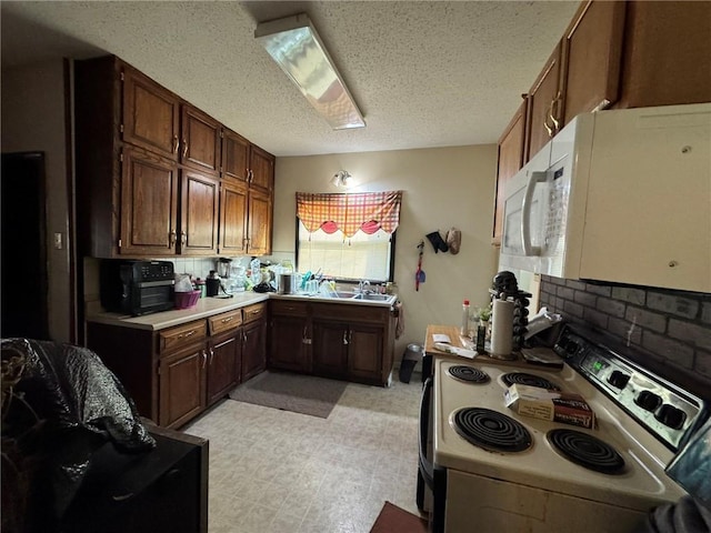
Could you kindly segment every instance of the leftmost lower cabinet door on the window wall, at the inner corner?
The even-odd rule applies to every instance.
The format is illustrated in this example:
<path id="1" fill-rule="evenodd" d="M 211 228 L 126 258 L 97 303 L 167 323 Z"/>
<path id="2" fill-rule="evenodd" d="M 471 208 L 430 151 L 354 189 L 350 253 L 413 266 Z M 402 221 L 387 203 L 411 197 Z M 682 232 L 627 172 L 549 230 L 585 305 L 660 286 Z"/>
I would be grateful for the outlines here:
<path id="1" fill-rule="evenodd" d="M 273 316 L 270 329 L 269 366 L 309 372 L 310 331 L 306 318 Z"/>

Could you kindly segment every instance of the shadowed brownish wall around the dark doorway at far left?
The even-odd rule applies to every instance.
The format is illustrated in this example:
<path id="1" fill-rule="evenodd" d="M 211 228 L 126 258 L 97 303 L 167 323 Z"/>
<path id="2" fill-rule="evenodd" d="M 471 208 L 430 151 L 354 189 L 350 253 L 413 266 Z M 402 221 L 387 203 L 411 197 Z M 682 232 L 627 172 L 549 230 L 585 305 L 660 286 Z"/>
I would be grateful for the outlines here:
<path id="1" fill-rule="evenodd" d="M 61 60 L 2 71 L 2 151 L 44 152 L 49 332 L 53 340 L 67 342 L 71 308 L 64 128 Z M 52 244 L 54 233 L 62 235 L 61 250 Z"/>

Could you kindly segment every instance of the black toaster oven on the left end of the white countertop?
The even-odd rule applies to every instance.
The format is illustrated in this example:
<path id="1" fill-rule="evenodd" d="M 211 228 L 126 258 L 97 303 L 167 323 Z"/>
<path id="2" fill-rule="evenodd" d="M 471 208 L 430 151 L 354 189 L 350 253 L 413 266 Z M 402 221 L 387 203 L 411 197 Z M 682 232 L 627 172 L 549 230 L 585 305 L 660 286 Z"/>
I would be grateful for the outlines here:
<path id="1" fill-rule="evenodd" d="M 101 305 L 133 316 L 174 308 L 174 266 L 170 261 L 102 260 Z"/>

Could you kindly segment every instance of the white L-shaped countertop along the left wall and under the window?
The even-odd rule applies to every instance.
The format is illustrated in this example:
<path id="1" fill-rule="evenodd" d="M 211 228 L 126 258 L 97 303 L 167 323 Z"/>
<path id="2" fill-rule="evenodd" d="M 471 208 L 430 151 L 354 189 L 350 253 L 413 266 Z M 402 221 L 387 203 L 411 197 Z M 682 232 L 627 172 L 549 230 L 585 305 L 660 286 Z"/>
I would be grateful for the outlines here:
<path id="1" fill-rule="evenodd" d="M 276 294 L 243 292 L 236 293 L 232 298 L 201 298 L 198 304 L 191 309 L 176 309 L 172 311 L 162 311 L 159 313 L 146 314 L 143 316 L 131 316 L 121 313 L 94 313 L 87 316 L 87 322 L 98 322 L 101 324 L 120 325 L 122 328 L 134 328 L 138 330 L 158 331 L 174 325 L 184 324 L 192 320 L 206 319 L 217 313 L 231 311 L 233 309 L 243 308 L 252 303 L 264 302 L 270 298 L 278 300 L 301 300 L 318 301 L 326 303 L 339 303 L 343 305 L 375 305 L 391 306 L 398 300 L 397 295 L 385 301 L 372 300 L 350 300 L 344 298 L 323 298 L 310 296 L 308 294 Z"/>

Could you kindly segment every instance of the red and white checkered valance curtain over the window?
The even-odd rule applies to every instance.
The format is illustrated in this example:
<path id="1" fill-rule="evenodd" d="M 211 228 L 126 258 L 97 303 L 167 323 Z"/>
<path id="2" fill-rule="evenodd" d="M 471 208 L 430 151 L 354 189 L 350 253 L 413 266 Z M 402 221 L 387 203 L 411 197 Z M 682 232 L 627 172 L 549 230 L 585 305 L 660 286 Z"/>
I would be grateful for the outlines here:
<path id="1" fill-rule="evenodd" d="M 297 192 L 297 217 L 309 233 L 340 230 L 347 238 L 359 230 L 368 234 L 378 230 L 392 233 L 400 223 L 401 203 L 402 191 L 350 194 Z"/>

